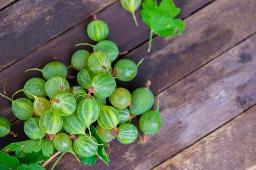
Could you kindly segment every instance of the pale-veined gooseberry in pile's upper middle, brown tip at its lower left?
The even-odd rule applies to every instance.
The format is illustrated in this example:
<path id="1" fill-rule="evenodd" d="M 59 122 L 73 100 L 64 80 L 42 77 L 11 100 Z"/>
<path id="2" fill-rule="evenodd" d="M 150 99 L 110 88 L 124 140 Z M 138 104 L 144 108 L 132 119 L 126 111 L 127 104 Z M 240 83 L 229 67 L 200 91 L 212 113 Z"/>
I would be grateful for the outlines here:
<path id="1" fill-rule="evenodd" d="M 115 79 L 109 74 L 98 74 L 93 78 L 92 86 L 95 88 L 93 94 L 99 98 L 107 98 L 116 87 Z"/>

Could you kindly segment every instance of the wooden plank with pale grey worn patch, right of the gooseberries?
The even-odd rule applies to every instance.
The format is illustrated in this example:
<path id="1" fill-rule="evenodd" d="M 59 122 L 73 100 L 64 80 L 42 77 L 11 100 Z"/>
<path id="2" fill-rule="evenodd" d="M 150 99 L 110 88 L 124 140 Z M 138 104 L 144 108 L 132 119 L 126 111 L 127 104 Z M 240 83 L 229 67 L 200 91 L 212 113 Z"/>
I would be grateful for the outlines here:
<path id="1" fill-rule="evenodd" d="M 255 65 L 256 35 L 163 91 L 160 131 L 145 144 L 139 139 L 131 145 L 111 143 L 109 169 L 151 169 L 254 105 Z M 84 168 L 67 155 L 57 169 L 75 165 Z M 107 167 L 97 162 L 93 168 Z"/>

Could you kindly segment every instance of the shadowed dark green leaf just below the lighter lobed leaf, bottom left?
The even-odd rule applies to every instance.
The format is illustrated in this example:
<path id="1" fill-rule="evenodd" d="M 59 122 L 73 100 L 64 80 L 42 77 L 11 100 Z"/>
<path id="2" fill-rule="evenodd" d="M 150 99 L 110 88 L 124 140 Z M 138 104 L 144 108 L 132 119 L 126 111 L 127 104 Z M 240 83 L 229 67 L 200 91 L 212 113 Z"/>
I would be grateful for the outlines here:
<path id="1" fill-rule="evenodd" d="M 43 151 L 40 150 L 38 153 L 36 153 L 36 152 L 26 153 L 25 157 L 20 160 L 20 163 L 28 164 L 28 163 L 32 162 L 32 163 L 37 164 L 42 161 L 46 161 L 49 158 L 50 158 L 50 156 L 49 157 L 44 156 Z"/>

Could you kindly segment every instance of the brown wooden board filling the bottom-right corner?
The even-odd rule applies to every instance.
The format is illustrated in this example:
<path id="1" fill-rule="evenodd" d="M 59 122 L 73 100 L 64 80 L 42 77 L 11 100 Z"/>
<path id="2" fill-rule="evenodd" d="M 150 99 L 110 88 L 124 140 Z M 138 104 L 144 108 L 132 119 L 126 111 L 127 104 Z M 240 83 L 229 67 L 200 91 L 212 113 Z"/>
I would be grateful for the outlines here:
<path id="1" fill-rule="evenodd" d="M 256 164 L 255 113 L 256 106 L 154 170 L 248 170 Z"/>

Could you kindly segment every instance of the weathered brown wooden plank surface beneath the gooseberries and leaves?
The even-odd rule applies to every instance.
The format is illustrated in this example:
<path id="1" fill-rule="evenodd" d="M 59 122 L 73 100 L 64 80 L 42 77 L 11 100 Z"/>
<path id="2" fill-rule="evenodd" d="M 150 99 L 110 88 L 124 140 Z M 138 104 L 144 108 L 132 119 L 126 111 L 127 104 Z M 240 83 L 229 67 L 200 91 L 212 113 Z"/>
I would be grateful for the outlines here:
<path id="1" fill-rule="evenodd" d="M 253 111 L 255 112 L 256 108 L 250 107 L 256 103 L 256 91 L 254 90 L 256 89 L 256 35 L 253 35 L 256 32 L 256 2 L 254 0 L 215 0 L 210 3 L 212 0 L 176 0 L 176 5 L 181 8 L 179 17 L 186 18 L 184 20 L 186 31 L 180 37 L 154 37 L 151 53 L 148 54 L 146 50 L 149 31 L 140 19 L 139 11 L 136 14 L 140 27 L 137 28 L 134 26 L 131 14 L 122 9 L 119 2 L 113 3 L 114 1 L 105 0 L 105 5 L 93 3 L 95 7 L 89 11 L 82 11 L 80 8 L 76 10 L 76 7 L 70 8 L 67 0 L 56 1 L 58 5 L 53 6 L 56 10 L 50 15 L 53 17 L 52 22 L 61 19 L 65 22 L 69 20 L 71 24 L 61 23 L 63 25 L 52 28 L 54 24 L 49 23 L 50 29 L 46 32 L 41 31 L 48 28 L 48 25 L 44 25 L 46 21 L 42 19 L 43 17 L 30 15 L 35 9 L 22 8 L 21 5 L 17 5 L 31 1 L 20 0 L 0 11 L 0 16 L 3 16 L 2 14 L 9 16 L 6 11 L 11 8 L 15 9 L 15 5 L 21 10 L 20 14 L 13 14 L 13 18 L 8 20 L 9 26 L 2 26 L 0 22 L 0 32 L 3 31 L 4 34 L 9 28 L 15 30 L 12 23 L 16 18 L 20 22 L 26 21 L 26 19 L 20 20 L 24 14 L 30 17 L 29 21 L 31 21 L 28 27 L 21 27 L 18 37 L 17 31 L 13 31 L 13 35 L 8 35 L 10 40 L 17 40 L 17 42 L 12 41 L 12 48 L 10 48 L 10 40 L 0 37 L 0 70 L 3 69 L 0 72 L 1 89 L 6 82 L 6 92 L 11 96 L 12 93 L 23 88 L 29 78 L 42 77 L 39 72 L 23 73 L 26 68 L 42 68 L 47 62 L 53 61 L 54 57 L 60 57 L 59 61 L 69 65 L 73 52 L 84 48 L 75 48 L 76 43 L 93 43 L 84 31 L 92 20 L 90 15 L 109 6 L 97 13 L 98 18 L 104 20 L 110 28 L 107 39 L 116 42 L 119 51 L 130 52 L 123 58 L 129 58 L 135 62 L 142 57 L 145 58 L 139 67 L 137 77 L 129 83 L 118 82 L 118 85 L 132 91 L 136 87 L 143 86 L 145 81 L 150 79 L 153 93 L 155 95 L 163 93 L 160 99 L 163 123 L 161 130 L 148 136 L 148 142 L 145 144 L 141 144 L 139 139 L 129 145 L 119 144 L 116 140 L 111 142 L 114 150 L 107 151 L 111 159 L 110 167 L 98 160 L 90 168 L 147 170 L 163 162 L 163 165 L 159 165 L 156 169 L 209 169 L 207 166 L 213 163 L 215 169 L 219 167 L 223 167 L 220 169 L 236 169 L 237 167 L 243 169 L 255 165 L 253 158 L 255 158 L 256 150 L 252 143 L 255 136 L 253 135 L 255 133 L 253 120 L 256 119 L 253 117 Z M 45 2 L 37 0 L 35 4 L 40 8 L 40 4 Z M 74 2 L 76 5 L 81 4 L 79 0 Z M 86 4 L 86 2 L 82 3 Z M 69 14 L 64 9 L 60 10 L 61 4 L 62 6 L 65 4 L 62 8 L 68 8 L 70 12 L 73 10 L 73 13 Z M 201 7 L 204 8 L 200 9 Z M 74 11 L 79 10 L 82 14 L 75 14 Z M 195 13 L 190 15 L 193 12 Z M 47 12 L 40 8 L 33 14 L 46 16 Z M 70 16 L 76 15 L 78 18 L 72 20 Z M 37 24 L 33 25 L 33 22 L 41 25 L 42 28 L 34 28 Z M 31 28 L 31 34 L 35 35 L 30 37 L 33 43 L 27 42 L 26 34 L 29 32 L 27 28 Z M 29 43 L 32 44 L 29 45 Z M 3 46 L 1 45 L 3 44 L 6 45 L 5 52 L 2 52 Z M 17 48 L 14 49 L 15 45 Z M 91 51 L 88 47 L 84 49 Z M 6 52 L 9 56 L 5 54 Z M 18 55 L 13 55 L 16 53 Z M 14 56 L 16 58 L 12 58 Z M 12 65 L 7 63 L 13 59 L 20 60 Z M 7 65 L 1 68 L 2 61 Z M 7 66 L 9 67 L 6 68 Z M 70 74 L 76 75 L 76 73 L 70 69 Z M 75 81 L 69 80 L 69 82 L 71 85 L 76 84 Z M 24 95 L 17 95 L 17 97 L 20 96 Z M 11 129 L 18 134 L 18 138 L 13 136 L 0 138 L 1 148 L 10 142 L 27 139 L 23 132 L 23 121 L 15 122 L 16 118 L 11 112 L 11 102 L 0 98 L 0 108 L 0 116 L 14 122 Z M 248 108 L 252 110 L 249 109 L 243 113 Z M 249 118 L 247 118 L 248 113 L 251 113 Z M 230 121 L 239 114 L 241 116 Z M 234 121 L 236 123 L 233 123 Z M 133 119 L 132 123 L 137 126 L 138 118 Z M 227 124 L 224 125 L 225 123 Z M 222 125 L 224 126 L 221 127 Z M 216 129 L 218 130 L 207 136 Z M 246 136 L 246 133 L 250 135 Z M 245 139 L 240 139 L 243 135 Z M 231 144 L 224 143 L 219 139 L 221 136 L 225 139 L 224 142 L 231 141 Z M 197 141 L 199 142 L 196 143 Z M 228 146 L 229 150 L 234 148 L 234 150 L 232 152 L 221 150 L 216 143 L 223 147 Z M 190 145 L 192 146 L 189 147 Z M 218 148 L 215 149 L 215 147 Z M 198 151 L 197 148 L 202 149 Z M 248 152 L 251 150 L 251 152 L 245 154 L 246 150 Z M 172 157 L 175 154 L 177 155 Z M 228 154 L 233 154 L 233 157 Z M 214 156 L 210 157 L 211 155 Z M 220 159 L 222 156 L 223 161 Z M 246 159 L 245 156 L 250 156 L 250 158 Z M 224 159 L 227 161 L 224 162 Z M 47 168 L 51 166 L 52 163 Z M 55 169 L 82 170 L 85 168 L 87 165 L 79 164 L 71 154 L 65 154 Z"/>

